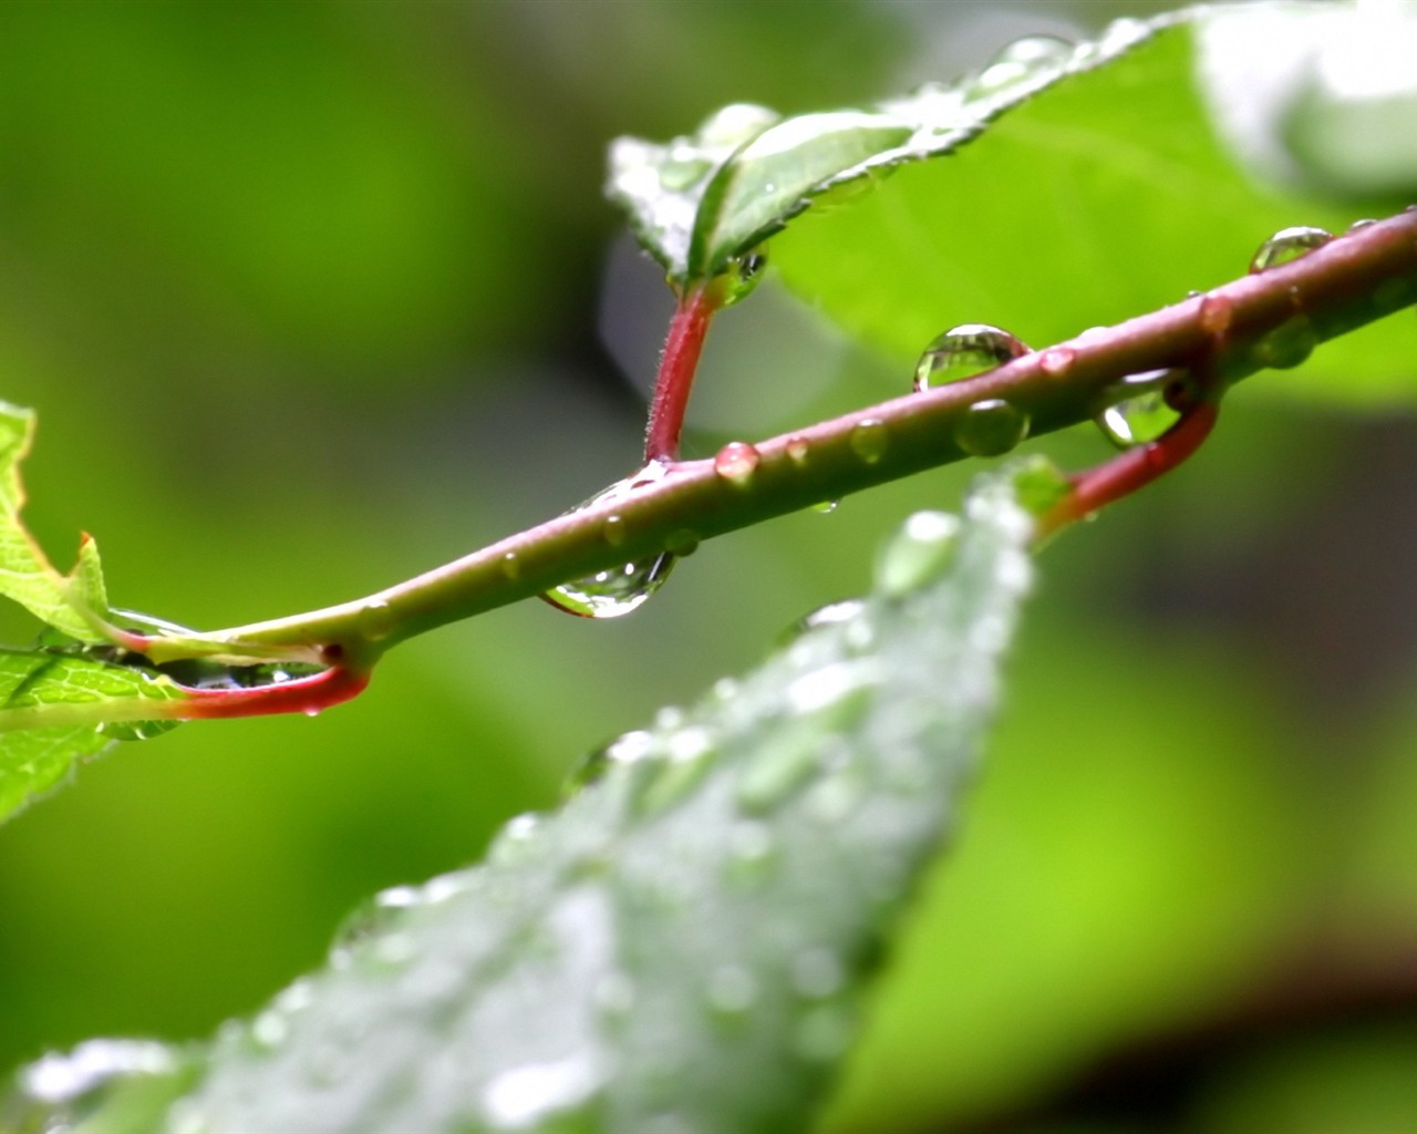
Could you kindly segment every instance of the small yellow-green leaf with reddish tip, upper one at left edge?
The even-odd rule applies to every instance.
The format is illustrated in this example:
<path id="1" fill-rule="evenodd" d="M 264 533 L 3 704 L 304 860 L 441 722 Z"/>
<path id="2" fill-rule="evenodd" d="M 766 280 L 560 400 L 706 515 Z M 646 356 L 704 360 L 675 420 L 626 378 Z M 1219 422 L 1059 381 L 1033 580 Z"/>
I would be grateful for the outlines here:
<path id="1" fill-rule="evenodd" d="M 57 631 L 82 642 L 102 635 L 85 618 L 85 607 L 106 614 L 103 574 L 98 547 L 88 537 L 79 546 L 72 580 L 61 576 L 20 522 L 24 486 L 20 462 L 30 452 L 34 412 L 0 401 L 0 595 L 13 598 Z"/>

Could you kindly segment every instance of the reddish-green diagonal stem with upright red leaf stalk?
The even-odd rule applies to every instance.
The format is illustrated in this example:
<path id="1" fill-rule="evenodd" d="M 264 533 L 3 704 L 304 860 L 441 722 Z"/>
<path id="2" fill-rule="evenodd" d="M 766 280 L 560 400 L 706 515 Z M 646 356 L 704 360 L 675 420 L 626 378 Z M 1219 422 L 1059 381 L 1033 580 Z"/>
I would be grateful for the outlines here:
<path id="1" fill-rule="evenodd" d="M 343 651 L 341 665 L 367 670 L 397 642 L 565 580 L 961 461 L 968 454 L 956 437 L 978 401 L 1009 401 L 1029 415 L 1030 432 L 1039 435 L 1091 420 L 1108 387 L 1146 370 L 1203 366 L 1219 395 L 1277 361 L 1294 364 L 1292 357 L 1277 360 L 1270 349 L 1275 340 L 1268 336 L 1277 332 L 1302 323 L 1316 344 L 1414 302 L 1417 213 L 1403 213 L 1291 264 L 985 374 L 762 441 L 755 447 L 757 468 L 744 481 L 720 476 L 713 461 L 677 462 L 660 482 L 628 498 L 560 516 L 367 598 L 203 641 L 234 651 L 247 642 L 305 655 L 334 644 Z M 652 454 L 673 452 L 687 397 L 687 384 L 680 383 L 691 374 L 710 315 L 711 302 L 699 293 L 674 316 L 662 369 L 673 376 L 672 390 L 656 393 Z M 614 544 L 605 539 L 612 516 L 618 517 Z"/>

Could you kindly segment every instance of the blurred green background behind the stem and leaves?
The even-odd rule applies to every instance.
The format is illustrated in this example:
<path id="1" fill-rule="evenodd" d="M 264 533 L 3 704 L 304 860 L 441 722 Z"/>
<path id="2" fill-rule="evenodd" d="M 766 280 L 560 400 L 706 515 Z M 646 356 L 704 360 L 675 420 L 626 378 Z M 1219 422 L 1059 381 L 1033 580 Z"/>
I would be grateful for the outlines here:
<path id="1" fill-rule="evenodd" d="M 544 519 L 635 464 L 667 315 L 601 200 L 612 136 L 864 101 L 1124 10 L 1156 6 L 3 7 L 30 520 L 60 561 L 92 532 L 120 605 L 217 627 Z M 1417 430 L 1280 381 L 1044 556 L 832 1131 L 1417 1128 Z M 769 284 L 716 329 L 687 448 L 904 387 Z M 0 1062 L 256 1008 L 361 897 L 473 860 L 580 754 L 862 590 L 968 475 L 716 540 L 621 622 L 441 631 L 319 720 L 119 747 L 0 832 Z"/>

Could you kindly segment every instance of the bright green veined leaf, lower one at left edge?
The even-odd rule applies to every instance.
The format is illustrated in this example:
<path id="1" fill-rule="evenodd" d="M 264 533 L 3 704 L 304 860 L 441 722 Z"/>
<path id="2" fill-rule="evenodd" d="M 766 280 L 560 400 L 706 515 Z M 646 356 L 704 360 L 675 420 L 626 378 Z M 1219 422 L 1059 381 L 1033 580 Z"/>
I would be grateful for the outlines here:
<path id="1" fill-rule="evenodd" d="M 0 822 L 113 740 L 154 736 L 187 696 L 171 679 L 82 653 L 0 649 Z"/>

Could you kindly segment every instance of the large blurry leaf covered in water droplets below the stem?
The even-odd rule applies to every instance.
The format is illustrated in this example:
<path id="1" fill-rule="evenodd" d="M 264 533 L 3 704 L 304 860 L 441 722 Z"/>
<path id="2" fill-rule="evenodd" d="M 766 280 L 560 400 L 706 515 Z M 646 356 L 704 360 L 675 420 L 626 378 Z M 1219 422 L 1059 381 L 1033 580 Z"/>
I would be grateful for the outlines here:
<path id="1" fill-rule="evenodd" d="M 874 597 L 381 894 L 139 1128 L 806 1128 L 973 774 L 1030 534 L 1007 476 L 913 517 Z"/>

